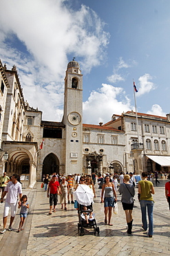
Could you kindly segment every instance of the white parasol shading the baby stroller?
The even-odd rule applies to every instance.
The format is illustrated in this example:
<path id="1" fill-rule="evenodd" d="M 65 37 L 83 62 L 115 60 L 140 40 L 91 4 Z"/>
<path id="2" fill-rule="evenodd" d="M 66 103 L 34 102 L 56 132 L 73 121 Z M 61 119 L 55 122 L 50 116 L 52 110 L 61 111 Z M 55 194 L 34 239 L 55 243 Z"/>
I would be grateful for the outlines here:
<path id="1" fill-rule="evenodd" d="M 78 188 L 74 192 L 74 196 L 76 201 L 78 201 L 78 203 L 80 203 L 81 205 L 87 206 L 91 205 L 91 203 L 94 203 L 94 193 L 88 185 L 78 184 Z"/>

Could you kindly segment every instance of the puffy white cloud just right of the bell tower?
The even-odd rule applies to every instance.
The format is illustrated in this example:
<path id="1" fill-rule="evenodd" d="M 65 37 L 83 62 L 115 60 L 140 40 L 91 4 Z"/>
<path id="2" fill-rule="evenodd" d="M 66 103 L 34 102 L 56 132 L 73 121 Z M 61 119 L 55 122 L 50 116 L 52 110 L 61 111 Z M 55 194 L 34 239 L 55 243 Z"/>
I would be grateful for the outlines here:
<path id="1" fill-rule="evenodd" d="M 123 97 L 122 101 L 116 98 Z M 92 91 L 86 102 L 83 103 L 83 122 L 96 125 L 99 122 L 108 122 L 111 116 L 121 114 L 131 109 L 130 100 L 124 95 L 123 89 L 110 84 L 102 84 L 98 91 Z"/>

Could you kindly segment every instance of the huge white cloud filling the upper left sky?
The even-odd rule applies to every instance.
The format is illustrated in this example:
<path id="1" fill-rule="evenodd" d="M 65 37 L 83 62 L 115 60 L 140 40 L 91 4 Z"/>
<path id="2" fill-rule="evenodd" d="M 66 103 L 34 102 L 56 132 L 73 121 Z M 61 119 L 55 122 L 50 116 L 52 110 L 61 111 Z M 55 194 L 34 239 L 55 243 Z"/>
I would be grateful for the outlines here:
<path id="1" fill-rule="evenodd" d="M 8 69 L 17 66 L 25 100 L 32 107 L 36 102 L 43 119 L 62 118 L 68 56 L 80 58 L 84 74 L 104 60 L 109 40 L 104 26 L 96 12 L 84 5 L 72 10 L 69 1 L 1 2 L 1 60 Z"/>

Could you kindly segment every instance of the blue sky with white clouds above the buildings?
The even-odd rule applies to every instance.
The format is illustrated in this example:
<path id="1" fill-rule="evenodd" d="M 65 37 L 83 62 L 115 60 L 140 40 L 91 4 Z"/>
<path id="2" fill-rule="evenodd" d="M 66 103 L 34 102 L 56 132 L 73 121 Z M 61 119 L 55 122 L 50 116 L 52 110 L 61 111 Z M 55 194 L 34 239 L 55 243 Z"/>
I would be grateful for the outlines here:
<path id="1" fill-rule="evenodd" d="M 169 0 L 1 1 L 0 58 L 15 64 L 25 100 L 61 121 L 67 63 L 83 73 L 83 122 L 134 109 L 169 113 Z"/>

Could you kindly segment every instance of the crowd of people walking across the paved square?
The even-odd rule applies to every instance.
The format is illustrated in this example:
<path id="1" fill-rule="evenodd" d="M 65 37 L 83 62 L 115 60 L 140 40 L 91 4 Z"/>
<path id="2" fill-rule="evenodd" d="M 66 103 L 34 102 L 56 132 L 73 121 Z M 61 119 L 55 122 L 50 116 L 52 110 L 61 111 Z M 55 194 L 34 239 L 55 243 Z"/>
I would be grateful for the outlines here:
<path id="1" fill-rule="evenodd" d="M 142 214 L 142 229 L 147 230 L 147 213 L 149 219 L 149 232 L 148 237 L 153 236 L 153 197 L 155 194 L 153 188 L 153 180 L 151 179 L 151 174 L 147 172 L 142 172 L 142 179 L 138 181 L 138 199 L 140 201 L 140 209 Z M 164 175 L 165 176 L 165 175 Z M 155 176 L 158 183 L 158 175 Z M 170 174 L 165 176 L 166 179 L 170 180 Z M 61 209 L 67 210 L 67 203 L 74 203 L 74 191 L 78 188 L 79 184 L 87 185 L 92 190 L 94 198 L 96 197 L 95 184 L 98 184 L 98 188 L 101 189 L 100 193 L 100 203 L 104 203 L 104 214 L 105 224 L 112 226 L 111 223 L 111 213 L 112 209 L 115 208 L 117 202 L 117 193 L 121 195 L 121 203 L 123 210 L 125 210 L 125 217 L 127 221 L 127 234 L 131 235 L 133 217 L 132 211 L 134 208 L 134 195 L 136 188 L 136 179 L 133 173 L 124 174 L 121 172 L 118 174 L 68 174 L 64 176 L 63 174 L 53 173 L 52 175 L 46 174 L 43 176 L 43 183 L 41 188 L 47 192 L 47 197 L 50 199 L 50 212 L 56 212 L 56 205 L 58 202 L 58 195 L 60 195 Z M 22 187 L 19 182 L 19 176 L 13 174 L 11 177 L 3 173 L 0 177 L 0 188 L 1 188 L 1 203 L 6 196 L 6 201 L 3 210 L 3 230 L 1 234 L 6 232 L 7 218 L 9 210 L 11 209 L 10 225 L 8 230 L 12 230 L 12 223 L 16 214 L 16 208 L 21 208 L 20 211 L 20 223 L 17 232 L 23 230 L 23 223 L 28 214 L 29 203 L 26 195 L 22 195 Z M 19 199 L 18 199 L 19 196 Z M 170 181 L 165 183 L 165 196 L 167 202 L 169 203 L 170 210 Z M 19 201 L 18 201 L 19 200 Z M 84 209 L 84 217 L 88 223 L 88 208 Z M 92 214 L 89 214 L 92 217 Z"/>

